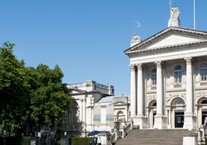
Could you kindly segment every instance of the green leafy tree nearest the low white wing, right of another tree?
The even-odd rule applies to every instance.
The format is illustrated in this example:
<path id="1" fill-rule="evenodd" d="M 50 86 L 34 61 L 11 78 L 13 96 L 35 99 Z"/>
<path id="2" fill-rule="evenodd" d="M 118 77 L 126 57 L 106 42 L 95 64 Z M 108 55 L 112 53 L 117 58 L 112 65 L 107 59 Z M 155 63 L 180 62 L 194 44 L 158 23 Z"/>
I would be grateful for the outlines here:
<path id="1" fill-rule="evenodd" d="M 63 73 L 58 66 L 50 69 L 46 65 L 36 68 L 37 88 L 32 93 L 32 118 L 40 126 L 54 126 L 63 120 L 69 108 L 70 97 L 62 87 Z"/>

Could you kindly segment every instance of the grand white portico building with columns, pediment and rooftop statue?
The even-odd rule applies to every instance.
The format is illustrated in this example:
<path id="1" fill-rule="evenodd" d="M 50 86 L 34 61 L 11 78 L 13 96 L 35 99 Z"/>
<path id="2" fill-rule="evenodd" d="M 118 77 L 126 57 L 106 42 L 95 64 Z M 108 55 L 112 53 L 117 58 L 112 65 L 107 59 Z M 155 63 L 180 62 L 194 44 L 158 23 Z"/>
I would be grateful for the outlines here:
<path id="1" fill-rule="evenodd" d="M 141 41 L 129 57 L 131 118 L 140 128 L 194 129 L 207 116 L 207 32 L 182 28 L 173 7 L 168 27 Z"/>

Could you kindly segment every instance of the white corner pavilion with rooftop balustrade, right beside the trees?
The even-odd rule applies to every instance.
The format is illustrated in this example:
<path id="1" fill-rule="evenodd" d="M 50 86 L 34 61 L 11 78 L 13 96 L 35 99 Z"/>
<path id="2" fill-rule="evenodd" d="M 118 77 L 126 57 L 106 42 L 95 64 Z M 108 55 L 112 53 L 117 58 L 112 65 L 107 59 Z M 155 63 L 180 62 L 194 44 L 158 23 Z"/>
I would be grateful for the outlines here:
<path id="1" fill-rule="evenodd" d="M 74 102 L 70 105 L 67 124 L 79 123 L 82 136 L 95 129 L 94 105 L 102 98 L 114 95 L 112 85 L 103 85 L 95 81 L 85 81 L 78 84 L 66 84 Z M 74 120 L 74 121 L 72 121 Z M 78 128 L 75 126 L 74 128 Z M 69 129 L 71 130 L 71 129 Z"/>

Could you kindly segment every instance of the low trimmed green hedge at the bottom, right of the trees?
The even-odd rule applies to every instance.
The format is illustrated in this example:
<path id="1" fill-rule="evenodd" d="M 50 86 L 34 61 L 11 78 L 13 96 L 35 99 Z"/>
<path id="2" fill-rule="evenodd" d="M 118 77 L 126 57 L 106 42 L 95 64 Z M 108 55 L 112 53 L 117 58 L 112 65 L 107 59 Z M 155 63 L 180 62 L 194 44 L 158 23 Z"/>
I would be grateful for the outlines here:
<path id="1" fill-rule="evenodd" d="M 92 137 L 73 137 L 71 145 L 89 145 L 93 139 Z"/>

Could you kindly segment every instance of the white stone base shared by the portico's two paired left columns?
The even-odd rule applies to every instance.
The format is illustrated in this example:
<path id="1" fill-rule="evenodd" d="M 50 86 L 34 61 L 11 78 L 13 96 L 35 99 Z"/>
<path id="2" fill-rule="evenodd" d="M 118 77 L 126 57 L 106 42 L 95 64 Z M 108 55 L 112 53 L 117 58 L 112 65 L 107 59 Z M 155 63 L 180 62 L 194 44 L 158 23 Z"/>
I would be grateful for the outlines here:
<path id="1" fill-rule="evenodd" d="M 131 117 L 133 119 L 133 125 L 137 126 L 139 129 L 148 128 L 147 120 L 148 118 L 142 115 L 137 115 L 135 117 Z"/>

